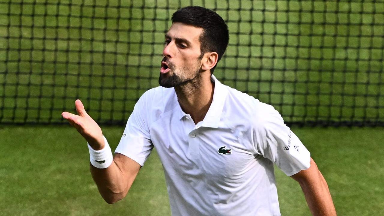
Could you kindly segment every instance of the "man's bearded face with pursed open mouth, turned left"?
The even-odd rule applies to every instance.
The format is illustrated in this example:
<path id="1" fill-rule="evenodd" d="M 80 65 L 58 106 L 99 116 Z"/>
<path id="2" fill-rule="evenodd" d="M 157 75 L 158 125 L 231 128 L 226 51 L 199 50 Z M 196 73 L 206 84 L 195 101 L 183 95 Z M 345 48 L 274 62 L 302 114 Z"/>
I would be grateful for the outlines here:
<path id="1" fill-rule="evenodd" d="M 202 28 L 173 23 L 165 36 L 159 84 L 170 88 L 200 76 L 199 37 Z"/>

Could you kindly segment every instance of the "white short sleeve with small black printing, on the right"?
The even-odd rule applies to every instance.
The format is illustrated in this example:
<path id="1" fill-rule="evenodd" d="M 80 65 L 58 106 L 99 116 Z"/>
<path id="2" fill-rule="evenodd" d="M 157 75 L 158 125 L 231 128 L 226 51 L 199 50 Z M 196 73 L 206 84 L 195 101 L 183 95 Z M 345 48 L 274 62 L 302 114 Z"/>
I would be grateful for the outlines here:
<path id="1" fill-rule="evenodd" d="M 275 163 L 287 176 L 308 169 L 310 152 L 284 124 L 280 113 L 264 103 L 259 108 L 253 135 L 258 153 Z"/>

